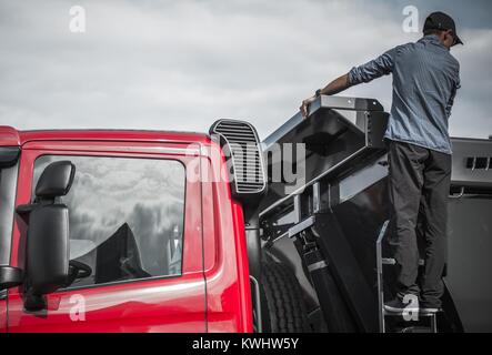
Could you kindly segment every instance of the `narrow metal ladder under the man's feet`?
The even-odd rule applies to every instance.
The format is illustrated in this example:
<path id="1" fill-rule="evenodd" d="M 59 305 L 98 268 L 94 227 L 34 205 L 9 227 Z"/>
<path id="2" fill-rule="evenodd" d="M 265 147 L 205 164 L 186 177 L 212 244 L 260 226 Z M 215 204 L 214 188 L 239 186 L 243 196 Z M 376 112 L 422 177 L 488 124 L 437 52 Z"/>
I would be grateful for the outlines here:
<path id="1" fill-rule="evenodd" d="M 396 261 L 392 257 L 383 257 L 382 255 L 382 241 L 386 234 L 389 220 L 384 221 L 381 231 L 379 233 L 375 253 L 376 253 L 376 272 L 378 272 L 378 314 L 379 314 L 379 328 L 381 333 L 386 333 L 386 317 L 402 317 L 403 313 L 388 312 L 384 310 L 384 282 L 383 282 L 383 265 L 395 265 Z M 419 261 L 419 265 L 423 265 L 423 261 Z M 438 314 L 419 312 L 419 317 L 428 317 L 430 321 L 430 333 L 438 333 Z"/>

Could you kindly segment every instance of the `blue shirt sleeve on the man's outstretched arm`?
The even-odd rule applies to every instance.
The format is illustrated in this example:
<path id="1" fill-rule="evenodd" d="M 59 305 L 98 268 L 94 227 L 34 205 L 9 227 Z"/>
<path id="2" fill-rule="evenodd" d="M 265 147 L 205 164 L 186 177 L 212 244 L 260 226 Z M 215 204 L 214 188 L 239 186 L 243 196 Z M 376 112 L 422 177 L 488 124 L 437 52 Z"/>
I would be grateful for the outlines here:
<path id="1" fill-rule="evenodd" d="M 393 71 L 395 54 L 396 48 L 393 48 L 365 64 L 353 67 L 349 72 L 350 84 L 355 85 L 362 82 L 370 82 L 382 75 L 390 74 Z"/>

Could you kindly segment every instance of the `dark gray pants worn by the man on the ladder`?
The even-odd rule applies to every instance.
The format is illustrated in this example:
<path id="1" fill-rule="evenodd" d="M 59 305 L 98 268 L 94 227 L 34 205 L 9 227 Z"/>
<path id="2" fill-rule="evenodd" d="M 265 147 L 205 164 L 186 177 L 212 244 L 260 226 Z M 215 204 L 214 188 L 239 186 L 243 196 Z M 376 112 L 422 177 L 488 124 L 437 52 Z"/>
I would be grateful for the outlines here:
<path id="1" fill-rule="evenodd" d="M 398 296 L 420 294 L 425 306 L 441 306 L 442 274 L 446 258 L 448 196 L 451 155 L 419 145 L 386 141 L 389 192 L 394 234 L 394 258 L 399 270 Z M 418 222 L 422 223 L 425 266 L 420 285 Z"/>

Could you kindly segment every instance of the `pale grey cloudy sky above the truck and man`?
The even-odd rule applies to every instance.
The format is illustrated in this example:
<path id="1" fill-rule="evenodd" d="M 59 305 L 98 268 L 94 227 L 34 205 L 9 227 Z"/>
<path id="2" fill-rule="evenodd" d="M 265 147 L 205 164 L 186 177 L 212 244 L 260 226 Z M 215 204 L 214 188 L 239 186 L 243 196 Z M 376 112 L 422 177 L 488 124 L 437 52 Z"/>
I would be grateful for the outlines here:
<path id="1" fill-rule="evenodd" d="M 72 33 L 69 10 L 86 10 Z M 129 128 L 208 131 L 218 118 L 245 119 L 262 138 L 300 101 L 352 65 L 450 13 L 465 42 L 451 134 L 492 134 L 492 2 L 423 0 L 0 0 L 0 124 L 19 129 Z M 344 95 L 389 109 L 391 79 Z"/>

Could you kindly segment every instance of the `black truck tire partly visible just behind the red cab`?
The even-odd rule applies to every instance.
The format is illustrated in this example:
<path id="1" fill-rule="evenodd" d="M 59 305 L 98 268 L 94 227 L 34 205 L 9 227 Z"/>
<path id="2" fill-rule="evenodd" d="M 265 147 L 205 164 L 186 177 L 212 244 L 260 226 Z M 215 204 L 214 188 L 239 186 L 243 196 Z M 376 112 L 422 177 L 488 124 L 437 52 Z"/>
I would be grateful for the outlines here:
<path id="1" fill-rule="evenodd" d="M 264 333 L 311 332 L 301 286 L 289 268 L 281 263 L 264 262 L 261 285 Z"/>

